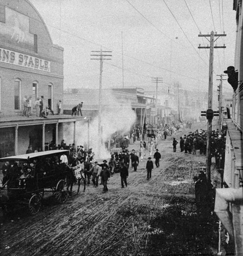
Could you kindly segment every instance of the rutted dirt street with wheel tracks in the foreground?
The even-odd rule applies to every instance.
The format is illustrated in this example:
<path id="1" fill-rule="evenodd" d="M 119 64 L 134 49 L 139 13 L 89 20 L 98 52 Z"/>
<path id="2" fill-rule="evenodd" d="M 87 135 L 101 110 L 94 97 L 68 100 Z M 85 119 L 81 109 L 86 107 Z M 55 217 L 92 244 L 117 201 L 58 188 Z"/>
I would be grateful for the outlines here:
<path id="1" fill-rule="evenodd" d="M 138 147 L 136 142 L 129 150 Z M 149 181 L 146 159 L 137 172 L 129 168 L 128 187 L 122 188 L 115 174 L 106 194 L 101 185 L 90 185 L 64 204 L 44 200 L 35 216 L 20 208 L 2 217 L 0 254 L 211 254 L 210 247 L 217 248 L 217 233 L 212 233 L 212 226 L 200 225 L 192 179 L 205 166 L 205 156 L 181 153 L 179 144 L 174 153 L 171 137 L 160 141 L 158 148 L 162 160 Z"/>

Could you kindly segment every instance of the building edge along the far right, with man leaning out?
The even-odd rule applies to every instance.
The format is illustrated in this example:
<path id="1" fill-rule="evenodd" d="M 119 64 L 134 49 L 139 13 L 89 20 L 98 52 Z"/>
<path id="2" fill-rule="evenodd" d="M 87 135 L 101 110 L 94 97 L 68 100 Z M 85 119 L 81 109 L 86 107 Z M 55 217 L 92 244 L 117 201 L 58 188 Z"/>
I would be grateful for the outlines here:
<path id="1" fill-rule="evenodd" d="M 218 218 L 234 240 L 235 254 L 243 255 L 243 9 L 241 0 L 233 1 L 236 11 L 235 70 L 238 88 L 233 94 L 232 118 L 224 119 L 226 135 L 224 186 L 216 189 L 215 207 Z M 233 90 L 232 90 L 233 91 Z M 229 100 L 228 100 L 229 101 Z M 227 103 L 231 104 L 231 101 Z"/>

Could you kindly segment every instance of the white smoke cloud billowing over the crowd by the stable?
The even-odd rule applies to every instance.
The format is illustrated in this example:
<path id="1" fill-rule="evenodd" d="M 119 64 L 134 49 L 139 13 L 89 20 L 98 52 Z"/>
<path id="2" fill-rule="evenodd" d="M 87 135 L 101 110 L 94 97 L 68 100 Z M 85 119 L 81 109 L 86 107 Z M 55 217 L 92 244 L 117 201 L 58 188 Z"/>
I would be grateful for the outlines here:
<path id="1" fill-rule="evenodd" d="M 99 102 L 97 97 L 93 97 L 94 102 Z M 89 102 L 92 104 L 93 102 Z M 94 103 L 93 103 L 94 104 Z M 111 91 L 102 91 L 102 147 L 98 148 L 98 115 L 92 118 L 89 124 L 89 147 L 92 147 L 94 153 L 100 152 L 100 156 L 96 156 L 99 159 L 107 159 L 110 157 L 110 152 L 105 148 L 104 142 L 109 140 L 115 132 L 126 134 L 130 131 L 131 127 L 136 121 L 136 114 L 132 110 L 132 106 L 129 100 L 122 97 L 116 97 Z M 88 144 L 88 125 L 85 121 L 77 122 L 76 126 L 76 141 L 77 145 L 87 146 Z M 69 126 L 68 129 L 73 129 L 73 126 Z M 73 138 L 73 132 L 64 132 L 68 137 Z M 72 130 L 73 131 L 73 130 Z M 71 136 L 70 136 L 71 135 Z M 67 137 L 66 137 L 67 138 Z M 73 139 L 72 139 L 73 140 Z"/>

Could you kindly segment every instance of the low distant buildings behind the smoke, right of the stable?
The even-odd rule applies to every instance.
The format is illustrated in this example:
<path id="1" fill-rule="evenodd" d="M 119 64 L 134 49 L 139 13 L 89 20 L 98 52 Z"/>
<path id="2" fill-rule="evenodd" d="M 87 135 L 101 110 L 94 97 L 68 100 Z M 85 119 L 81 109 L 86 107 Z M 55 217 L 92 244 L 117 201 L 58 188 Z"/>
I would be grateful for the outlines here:
<path id="1" fill-rule="evenodd" d="M 64 90 L 64 114 L 71 114 L 71 109 L 80 103 L 83 104 L 83 113 L 91 118 L 98 115 L 99 110 L 99 89 L 67 89 Z M 145 113 L 145 122 L 156 123 L 156 100 L 155 97 L 146 95 L 141 88 L 113 88 L 102 89 L 102 108 L 106 108 L 115 100 L 120 104 L 131 105 L 136 113 L 137 124 L 142 124 Z M 158 116 L 161 120 L 164 109 L 158 104 Z"/>

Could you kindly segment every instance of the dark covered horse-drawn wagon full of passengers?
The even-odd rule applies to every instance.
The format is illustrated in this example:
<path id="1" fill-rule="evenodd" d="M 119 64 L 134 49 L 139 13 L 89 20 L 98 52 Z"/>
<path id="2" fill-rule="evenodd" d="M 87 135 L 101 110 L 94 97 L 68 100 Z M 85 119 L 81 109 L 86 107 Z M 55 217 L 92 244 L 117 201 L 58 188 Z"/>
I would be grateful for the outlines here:
<path id="1" fill-rule="evenodd" d="M 0 189 L 0 206 L 5 213 L 13 205 L 27 205 L 31 214 L 41 209 L 45 192 L 51 192 L 57 202 L 68 197 L 69 168 L 59 163 L 67 150 L 53 150 L 1 158 L 9 162 L 7 179 Z"/>

